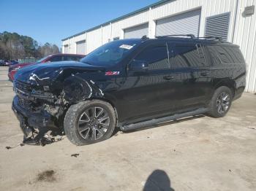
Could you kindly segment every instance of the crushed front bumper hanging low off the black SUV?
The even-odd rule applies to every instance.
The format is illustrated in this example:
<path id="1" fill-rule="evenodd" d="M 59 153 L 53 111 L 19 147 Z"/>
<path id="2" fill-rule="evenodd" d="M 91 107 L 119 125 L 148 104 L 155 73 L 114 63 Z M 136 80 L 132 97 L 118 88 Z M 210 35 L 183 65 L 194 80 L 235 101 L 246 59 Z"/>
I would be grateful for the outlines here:
<path id="1" fill-rule="evenodd" d="M 56 128 L 53 116 L 43 109 L 39 112 L 30 112 L 29 109 L 19 105 L 19 98 L 17 95 L 12 101 L 12 111 L 18 118 L 20 129 L 26 137 L 28 137 L 34 129 Z"/>

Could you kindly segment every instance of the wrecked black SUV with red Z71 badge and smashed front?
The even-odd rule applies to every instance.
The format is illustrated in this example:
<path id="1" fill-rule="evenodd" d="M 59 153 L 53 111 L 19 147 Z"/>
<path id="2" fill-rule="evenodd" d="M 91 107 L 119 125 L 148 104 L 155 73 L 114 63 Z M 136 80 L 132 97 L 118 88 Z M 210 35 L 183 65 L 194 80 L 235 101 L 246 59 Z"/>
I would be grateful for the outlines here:
<path id="1" fill-rule="evenodd" d="M 64 128 L 76 145 L 196 114 L 223 117 L 246 85 L 239 47 L 218 38 L 158 36 L 109 42 L 80 62 L 15 76 L 12 109 L 25 136 Z"/>

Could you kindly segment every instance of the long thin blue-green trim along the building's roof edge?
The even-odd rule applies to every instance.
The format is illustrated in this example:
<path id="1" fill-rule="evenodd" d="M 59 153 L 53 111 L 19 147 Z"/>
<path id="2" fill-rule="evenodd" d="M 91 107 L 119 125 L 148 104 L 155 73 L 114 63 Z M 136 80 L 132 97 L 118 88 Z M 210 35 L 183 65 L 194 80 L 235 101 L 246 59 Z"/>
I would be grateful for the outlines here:
<path id="1" fill-rule="evenodd" d="M 70 38 L 75 37 L 75 36 L 78 36 L 78 35 L 80 35 L 80 34 L 85 34 L 86 32 L 93 31 L 93 30 L 95 30 L 95 29 L 97 29 L 97 28 L 100 28 L 100 27 L 102 27 L 102 26 L 107 26 L 109 23 L 114 23 L 114 22 L 116 22 L 116 21 L 118 21 L 118 20 L 122 20 L 122 19 L 124 19 L 124 18 L 126 18 L 126 17 L 130 17 L 130 16 L 136 15 L 136 14 L 138 14 L 138 13 L 140 13 L 140 12 L 144 12 L 144 11 L 146 11 L 147 9 L 149 9 L 150 7 L 157 7 L 157 6 L 159 6 L 160 4 L 164 4 L 164 3 L 167 2 L 167 1 L 173 1 L 173 0 L 162 0 L 162 1 L 158 1 L 158 2 L 156 2 L 156 3 L 154 3 L 154 4 L 148 5 L 147 7 L 143 7 L 143 8 L 141 8 L 141 9 L 138 9 L 138 10 L 134 11 L 134 12 L 130 12 L 130 13 L 126 14 L 126 15 L 123 15 L 123 16 L 121 16 L 121 17 L 117 17 L 116 19 L 110 20 L 110 21 L 108 21 L 108 22 L 106 22 L 106 23 L 102 23 L 102 24 L 99 25 L 99 26 L 94 26 L 93 28 L 89 28 L 89 29 L 87 29 L 86 31 L 82 31 L 82 32 L 80 32 L 80 33 L 78 33 L 78 34 L 74 34 L 74 35 L 69 36 L 69 37 L 67 37 L 67 38 L 65 38 L 65 39 L 61 39 L 61 41 L 70 39 Z"/>

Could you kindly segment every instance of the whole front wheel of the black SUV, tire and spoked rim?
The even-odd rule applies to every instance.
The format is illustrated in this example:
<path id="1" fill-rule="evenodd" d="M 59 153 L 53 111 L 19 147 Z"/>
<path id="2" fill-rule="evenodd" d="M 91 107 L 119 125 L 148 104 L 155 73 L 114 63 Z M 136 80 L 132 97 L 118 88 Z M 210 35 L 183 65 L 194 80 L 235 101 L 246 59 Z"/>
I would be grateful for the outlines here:
<path id="1" fill-rule="evenodd" d="M 116 114 L 108 102 L 82 101 L 67 110 L 64 132 L 75 145 L 94 144 L 109 139 L 116 128 Z"/>

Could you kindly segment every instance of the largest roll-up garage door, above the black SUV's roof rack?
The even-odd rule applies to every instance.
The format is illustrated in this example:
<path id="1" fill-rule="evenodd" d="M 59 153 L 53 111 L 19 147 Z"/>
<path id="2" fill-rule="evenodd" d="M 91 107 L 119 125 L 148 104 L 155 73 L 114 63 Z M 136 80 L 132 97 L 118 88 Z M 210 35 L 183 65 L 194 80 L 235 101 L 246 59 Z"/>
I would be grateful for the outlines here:
<path id="1" fill-rule="evenodd" d="M 201 9 L 157 20 L 156 36 L 194 34 L 198 36 Z"/>

